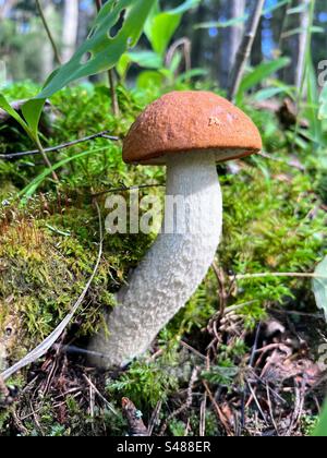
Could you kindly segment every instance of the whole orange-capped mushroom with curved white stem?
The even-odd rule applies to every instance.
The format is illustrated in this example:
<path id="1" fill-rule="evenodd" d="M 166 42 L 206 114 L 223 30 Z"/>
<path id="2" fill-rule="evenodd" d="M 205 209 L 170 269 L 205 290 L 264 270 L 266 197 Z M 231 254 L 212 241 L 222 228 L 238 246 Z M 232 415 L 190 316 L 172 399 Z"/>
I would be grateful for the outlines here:
<path id="1" fill-rule="evenodd" d="M 174 205 L 166 206 L 160 231 L 106 330 L 92 342 L 94 362 L 123 366 L 143 354 L 205 278 L 217 251 L 222 198 L 216 162 L 258 153 L 262 138 L 251 119 L 209 92 L 173 92 L 149 105 L 123 144 L 128 164 L 167 165 L 167 198 L 184 203 L 182 225 Z M 182 226 L 182 228 L 181 228 Z"/>

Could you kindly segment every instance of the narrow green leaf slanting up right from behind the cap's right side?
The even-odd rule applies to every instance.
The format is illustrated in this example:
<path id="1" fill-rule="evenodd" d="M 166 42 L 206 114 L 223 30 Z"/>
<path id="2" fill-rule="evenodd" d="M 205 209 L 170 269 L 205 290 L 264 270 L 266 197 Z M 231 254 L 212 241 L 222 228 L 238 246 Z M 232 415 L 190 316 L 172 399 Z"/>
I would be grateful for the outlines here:
<path id="1" fill-rule="evenodd" d="M 251 73 L 244 76 L 240 89 L 237 96 L 238 101 L 240 101 L 243 97 L 243 94 L 252 89 L 257 84 L 265 81 L 267 77 L 272 75 L 274 73 L 278 72 L 278 70 L 283 69 L 284 67 L 289 65 L 290 59 L 289 58 L 280 58 L 270 62 L 264 62 L 257 65 Z"/>

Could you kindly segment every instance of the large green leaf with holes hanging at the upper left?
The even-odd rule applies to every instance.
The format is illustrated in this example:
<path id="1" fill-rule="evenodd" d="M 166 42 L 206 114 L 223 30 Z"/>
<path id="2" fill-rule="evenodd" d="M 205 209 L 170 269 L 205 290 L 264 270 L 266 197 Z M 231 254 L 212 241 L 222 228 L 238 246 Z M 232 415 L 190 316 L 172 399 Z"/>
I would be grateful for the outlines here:
<path id="1" fill-rule="evenodd" d="M 76 80 L 114 67 L 120 57 L 136 45 L 155 2 L 156 0 L 107 1 L 85 43 L 69 62 L 50 75 L 41 93 L 24 105 L 23 114 L 34 135 L 37 135 L 45 100 Z"/>

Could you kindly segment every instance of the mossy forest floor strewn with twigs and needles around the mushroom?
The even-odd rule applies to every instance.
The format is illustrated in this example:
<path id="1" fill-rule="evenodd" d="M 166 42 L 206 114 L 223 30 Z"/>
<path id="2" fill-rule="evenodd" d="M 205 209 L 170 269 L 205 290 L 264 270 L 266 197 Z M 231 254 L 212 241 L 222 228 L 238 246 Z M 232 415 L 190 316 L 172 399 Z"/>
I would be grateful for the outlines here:
<path id="1" fill-rule="evenodd" d="M 34 91 L 14 85 L 8 96 L 22 99 Z M 66 89 L 44 116 L 44 144 L 104 131 L 122 137 L 159 93 L 119 88 L 114 119 L 105 87 Z M 89 367 L 87 342 L 102 309 L 114 305 L 114 292 L 155 238 L 107 234 L 72 324 L 41 360 L 0 383 L 0 435 L 311 434 L 327 388 L 326 322 L 308 278 L 274 274 L 312 273 L 326 255 L 327 178 L 310 143 L 293 145 L 292 126 L 276 112 L 251 101 L 242 108 L 267 153 L 218 167 L 223 239 L 190 303 L 125 370 Z M 0 155 L 29 149 L 17 126 L 2 120 Z M 0 159 L 2 370 L 46 338 L 85 288 L 100 243 L 95 202 L 104 219 L 112 189 L 129 196 L 129 186 L 148 184 L 154 188 L 141 195 L 162 196 L 164 170 L 125 166 L 120 142 L 106 135 L 49 157 L 59 186 L 37 155 Z"/>

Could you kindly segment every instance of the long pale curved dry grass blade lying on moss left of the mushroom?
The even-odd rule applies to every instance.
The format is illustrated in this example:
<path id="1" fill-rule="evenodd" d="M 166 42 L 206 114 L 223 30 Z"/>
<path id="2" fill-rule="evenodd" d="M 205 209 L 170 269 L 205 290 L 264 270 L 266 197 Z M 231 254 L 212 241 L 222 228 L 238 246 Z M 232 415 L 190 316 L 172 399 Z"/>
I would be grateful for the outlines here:
<path id="1" fill-rule="evenodd" d="M 70 324 L 72 318 L 74 317 L 75 313 L 77 312 L 78 308 L 83 303 L 87 291 L 90 288 L 90 285 L 93 284 L 95 276 L 98 272 L 101 257 L 102 257 L 102 250 L 104 250 L 104 231 L 102 231 L 102 220 L 101 220 L 101 213 L 100 208 L 97 203 L 95 203 L 97 212 L 98 212 L 98 218 L 99 218 L 99 252 L 96 265 L 94 267 L 93 274 L 87 281 L 82 294 L 80 296 L 78 300 L 74 304 L 72 311 L 65 316 L 65 318 L 57 326 L 57 328 L 34 350 L 32 350 L 25 358 L 23 358 L 21 361 L 19 361 L 16 364 L 14 364 L 12 367 L 9 367 L 7 371 L 4 371 L 0 376 L 3 378 L 3 381 L 8 379 L 12 375 L 14 375 L 16 372 L 21 371 L 23 367 L 26 367 L 26 365 L 33 364 L 35 361 L 44 357 L 49 349 L 53 346 L 53 343 L 58 340 L 58 338 L 61 336 L 61 334 L 64 332 L 66 326 Z"/>

